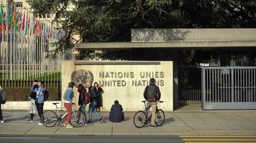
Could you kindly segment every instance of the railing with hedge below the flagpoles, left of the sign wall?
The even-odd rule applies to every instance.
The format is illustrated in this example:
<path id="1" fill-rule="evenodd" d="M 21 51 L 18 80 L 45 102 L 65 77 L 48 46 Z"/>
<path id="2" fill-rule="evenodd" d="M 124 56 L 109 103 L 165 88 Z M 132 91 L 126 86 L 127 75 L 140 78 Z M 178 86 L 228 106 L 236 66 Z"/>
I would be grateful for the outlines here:
<path id="1" fill-rule="evenodd" d="M 61 74 L 55 64 L 0 64 L 0 85 L 9 101 L 24 101 L 35 79 L 42 80 L 49 100 L 60 99 Z"/>

